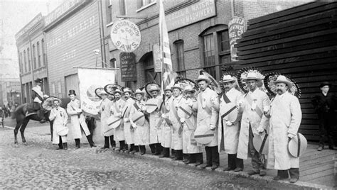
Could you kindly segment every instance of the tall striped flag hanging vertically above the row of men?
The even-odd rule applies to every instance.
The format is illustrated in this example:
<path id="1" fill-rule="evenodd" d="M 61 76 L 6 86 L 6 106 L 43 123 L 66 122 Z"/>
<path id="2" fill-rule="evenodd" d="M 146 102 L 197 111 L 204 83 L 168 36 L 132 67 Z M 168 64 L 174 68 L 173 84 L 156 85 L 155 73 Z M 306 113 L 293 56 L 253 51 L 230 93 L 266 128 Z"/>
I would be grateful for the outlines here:
<path id="1" fill-rule="evenodd" d="M 159 0 L 159 33 L 161 50 L 161 91 L 164 92 L 166 86 L 173 86 L 177 74 L 172 70 L 171 50 L 169 43 L 169 33 L 166 27 L 166 19 L 163 1 Z"/>

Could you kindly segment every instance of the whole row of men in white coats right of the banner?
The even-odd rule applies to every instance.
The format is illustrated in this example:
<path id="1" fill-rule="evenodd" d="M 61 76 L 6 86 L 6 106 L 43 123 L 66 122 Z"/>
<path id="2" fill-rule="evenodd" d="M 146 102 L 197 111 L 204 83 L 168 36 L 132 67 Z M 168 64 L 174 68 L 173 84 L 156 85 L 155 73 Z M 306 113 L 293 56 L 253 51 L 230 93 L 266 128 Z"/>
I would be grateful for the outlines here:
<path id="1" fill-rule="evenodd" d="M 274 84 L 277 95 L 269 100 L 267 94 L 257 87 L 261 79 L 256 72 L 248 72 L 244 79 L 249 91 L 243 94 L 235 89 L 235 78 L 225 75 L 221 81 L 225 92 L 221 97 L 210 89 L 210 79 L 200 75 L 195 97 L 193 86 L 174 86 L 164 89 L 163 101 L 159 86 L 150 86 L 151 98 L 144 101 L 144 91 L 131 89 L 114 91 L 114 101 L 102 98 L 102 125 L 109 116 L 119 117 L 120 124 L 114 128 L 114 140 L 119 141 L 118 151 L 141 152 L 149 145 L 152 155 L 195 163 L 201 168 L 216 169 L 220 165 L 219 152 L 228 154 L 226 171 L 240 172 L 243 160 L 252 159 L 248 174 L 266 175 L 265 169 L 277 169 L 275 180 L 287 179 L 294 183 L 299 179 L 299 157 L 289 154 L 288 142 L 295 137 L 301 123 L 301 107 L 296 96 L 289 94 L 292 84 L 279 75 Z M 132 94 L 134 98 L 131 98 Z M 107 94 L 102 94 L 107 96 Z M 121 96 L 124 95 L 124 99 Z M 136 100 L 134 100 L 136 99 Z M 105 110 L 107 116 L 103 116 Z M 134 115 L 145 118 L 137 124 Z M 103 130 L 111 130 L 108 126 Z M 269 134 L 267 155 L 256 150 L 253 138 Z M 111 136 L 111 134 L 107 134 Z M 105 147 L 109 147 L 106 138 Z M 128 146 L 129 145 L 129 149 Z M 203 163 L 203 147 L 206 162 Z"/>

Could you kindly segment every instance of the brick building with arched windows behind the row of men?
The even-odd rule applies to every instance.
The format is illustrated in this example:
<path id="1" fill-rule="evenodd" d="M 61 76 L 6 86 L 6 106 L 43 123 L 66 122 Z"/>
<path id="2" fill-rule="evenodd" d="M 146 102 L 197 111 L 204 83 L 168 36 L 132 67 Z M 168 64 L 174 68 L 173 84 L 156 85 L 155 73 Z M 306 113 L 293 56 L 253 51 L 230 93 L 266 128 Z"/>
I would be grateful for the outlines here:
<path id="1" fill-rule="evenodd" d="M 165 1 L 164 9 L 169 30 L 173 70 L 189 79 L 198 77 L 198 70 L 205 69 L 220 79 L 223 67 L 232 67 L 228 41 L 228 23 L 232 16 L 249 20 L 258 16 L 304 4 L 306 1 Z M 119 55 L 110 39 L 114 22 L 124 16 L 137 23 L 141 30 L 141 44 L 134 54 L 137 62 L 137 81 L 121 82 L 136 89 L 151 82 L 160 82 L 154 73 L 153 46 L 159 43 L 159 1 L 119 0 L 103 1 L 105 9 L 105 59 L 112 67 L 120 67 Z M 139 17 L 139 18 L 134 18 Z M 145 17 L 144 19 L 140 17 Z"/>

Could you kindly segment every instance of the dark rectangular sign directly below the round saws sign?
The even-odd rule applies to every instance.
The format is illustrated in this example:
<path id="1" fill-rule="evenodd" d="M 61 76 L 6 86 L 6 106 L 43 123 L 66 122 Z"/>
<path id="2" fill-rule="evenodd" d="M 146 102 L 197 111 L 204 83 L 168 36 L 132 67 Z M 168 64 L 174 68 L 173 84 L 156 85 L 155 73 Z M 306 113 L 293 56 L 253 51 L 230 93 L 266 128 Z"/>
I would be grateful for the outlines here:
<path id="1" fill-rule="evenodd" d="M 122 82 L 137 81 L 136 55 L 133 52 L 121 52 L 119 60 Z"/>

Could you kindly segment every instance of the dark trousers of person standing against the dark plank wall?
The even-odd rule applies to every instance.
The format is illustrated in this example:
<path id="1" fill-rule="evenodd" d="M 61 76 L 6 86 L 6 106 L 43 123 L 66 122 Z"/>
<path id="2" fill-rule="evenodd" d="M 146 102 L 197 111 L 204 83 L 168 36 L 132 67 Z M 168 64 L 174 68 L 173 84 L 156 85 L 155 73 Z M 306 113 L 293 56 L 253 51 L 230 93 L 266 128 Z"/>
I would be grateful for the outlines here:
<path id="1" fill-rule="evenodd" d="M 319 114 L 319 145 L 324 147 L 326 138 L 328 147 L 333 147 L 333 112 Z"/>

